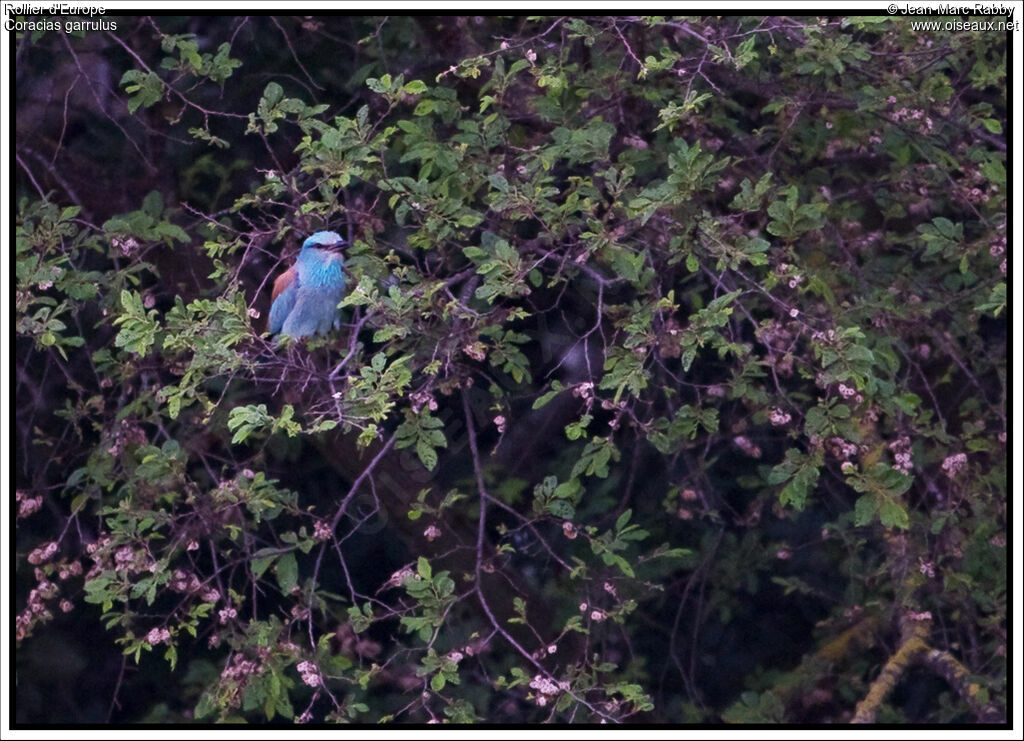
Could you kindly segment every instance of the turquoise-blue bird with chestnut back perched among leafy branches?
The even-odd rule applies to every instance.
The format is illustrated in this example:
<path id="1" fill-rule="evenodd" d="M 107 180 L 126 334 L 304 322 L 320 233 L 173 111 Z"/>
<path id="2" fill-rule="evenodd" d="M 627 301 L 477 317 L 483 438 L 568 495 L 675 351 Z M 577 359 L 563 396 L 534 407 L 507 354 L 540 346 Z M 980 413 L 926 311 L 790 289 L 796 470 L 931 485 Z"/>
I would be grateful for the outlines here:
<path id="1" fill-rule="evenodd" d="M 295 264 L 273 281 L 270 297 L 271 335 L 292 338 L 326 335 L 341 325 L 338 303 L 345 296 L 344 260 L 322 250 L 344 244 L 334 231 L 317 231 L 302 243 Z"/>

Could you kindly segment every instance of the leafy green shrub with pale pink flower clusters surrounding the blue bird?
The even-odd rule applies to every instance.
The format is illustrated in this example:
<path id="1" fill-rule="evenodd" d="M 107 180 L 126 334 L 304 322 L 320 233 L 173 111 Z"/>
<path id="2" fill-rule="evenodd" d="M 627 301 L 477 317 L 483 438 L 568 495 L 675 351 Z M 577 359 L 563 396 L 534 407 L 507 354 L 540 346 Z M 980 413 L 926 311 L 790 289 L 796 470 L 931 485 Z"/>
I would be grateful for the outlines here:
<path id="1" fill-rule="evenodd" d="M 19 37 L 18 720 L 1002 721 L 1006 42 Z"/>

